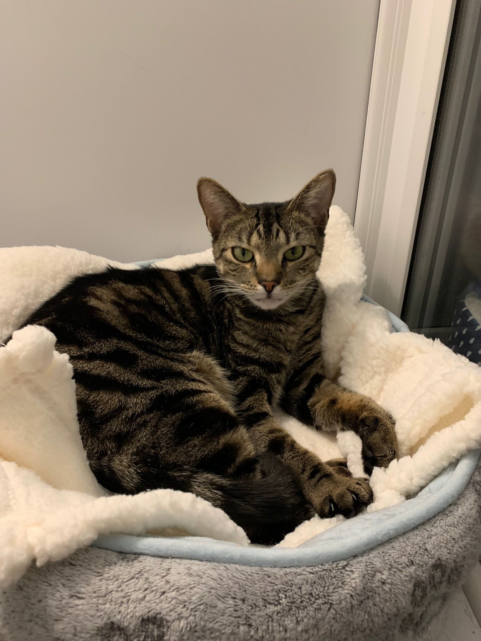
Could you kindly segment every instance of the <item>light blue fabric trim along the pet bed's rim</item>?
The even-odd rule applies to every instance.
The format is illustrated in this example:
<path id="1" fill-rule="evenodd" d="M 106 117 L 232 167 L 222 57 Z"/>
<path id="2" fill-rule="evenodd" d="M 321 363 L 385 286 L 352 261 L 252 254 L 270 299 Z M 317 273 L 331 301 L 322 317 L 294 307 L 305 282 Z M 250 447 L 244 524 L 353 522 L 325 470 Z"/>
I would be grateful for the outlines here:
<path id="1" fill-rule="evenodd" d="M 152 262 L 138 264 L 148 267 Z M 377 305 L 367 296 L 362 296 L 362 300 Z M 401 319 L 387 310 L 386 313 L 393 331 L 409 331 Z M 242 547 L 203 537 L 134 537 L 122 534 L 103 535 L 92 545 L 130 554 L 262 567 L 300 567 L 339 561 L 400 536 L 444 510 L 466 487 L 479 456 L 480 450 L 470 451 L 457 463 L 446 467 L 416 497 L 392 508 L 348 519 L 293 549 Z"/>

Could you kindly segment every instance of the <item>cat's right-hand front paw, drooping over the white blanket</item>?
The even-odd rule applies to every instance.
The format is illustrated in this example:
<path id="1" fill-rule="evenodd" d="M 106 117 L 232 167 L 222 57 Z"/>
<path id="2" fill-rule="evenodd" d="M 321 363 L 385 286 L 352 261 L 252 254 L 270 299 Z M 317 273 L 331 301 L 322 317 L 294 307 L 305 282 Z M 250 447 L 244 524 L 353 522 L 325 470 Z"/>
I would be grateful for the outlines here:
<path id="1" fill-rule="evenodd" d="M 398 457 L 398 439 L 394 419 L 389 412 L 373 403 L 359 415 L 357 433 L 362 440 L 364 471 L 371 475 L 375 467 L 387 467 Z"/>

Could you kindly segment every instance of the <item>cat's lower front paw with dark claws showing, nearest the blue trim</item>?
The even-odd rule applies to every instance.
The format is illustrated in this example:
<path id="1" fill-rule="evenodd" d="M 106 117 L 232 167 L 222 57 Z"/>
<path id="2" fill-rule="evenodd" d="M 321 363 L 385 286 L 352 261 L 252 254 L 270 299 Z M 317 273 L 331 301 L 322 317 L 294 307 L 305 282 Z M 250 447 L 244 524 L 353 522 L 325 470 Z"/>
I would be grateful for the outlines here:
<path id="1" fill-rule="evenodd" d="M 317 514 L 325 519 L 342 514 L 350 519 L 373 502 L 373 490 L 364 478 L 346 474 L 322 475 L 306 492 Z"/>

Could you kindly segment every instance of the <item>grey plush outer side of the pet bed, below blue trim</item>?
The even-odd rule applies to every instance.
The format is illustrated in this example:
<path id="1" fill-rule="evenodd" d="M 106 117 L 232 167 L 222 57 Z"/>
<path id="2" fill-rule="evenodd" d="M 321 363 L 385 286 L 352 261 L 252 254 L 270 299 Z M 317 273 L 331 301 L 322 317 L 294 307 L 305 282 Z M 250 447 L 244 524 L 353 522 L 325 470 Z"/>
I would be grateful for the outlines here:
<path id="1" fill-rule="evenodd" d="M 4 592 L 4 641 L 421 641 L 477 562 L 481 474 L 443 513 L 348 561 L 272 569 L 87 549 Z M 441 613 L 441 615 L 440 615 Z"/>

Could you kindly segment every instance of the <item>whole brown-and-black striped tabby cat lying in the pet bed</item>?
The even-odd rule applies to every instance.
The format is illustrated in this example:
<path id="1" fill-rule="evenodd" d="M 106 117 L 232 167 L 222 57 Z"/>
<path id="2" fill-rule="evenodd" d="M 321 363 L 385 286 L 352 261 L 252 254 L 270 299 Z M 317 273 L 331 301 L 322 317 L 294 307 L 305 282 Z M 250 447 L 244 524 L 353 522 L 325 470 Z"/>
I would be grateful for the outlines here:
<path id="1" fill-rule="evenodd" d="M 334 188 L 327 170 L 291 201 L 248 205 L 201 178 L 215 265 L 79 276 L 31 315 L 69 354 L 101 485 L 194 492 L 264 544 L 372 501 L 343 460 L 321 462 L 273 417 L 353 429 L 367 471 L 397 453 L 391 415 L 324 374 L 316 271 Z"/>

